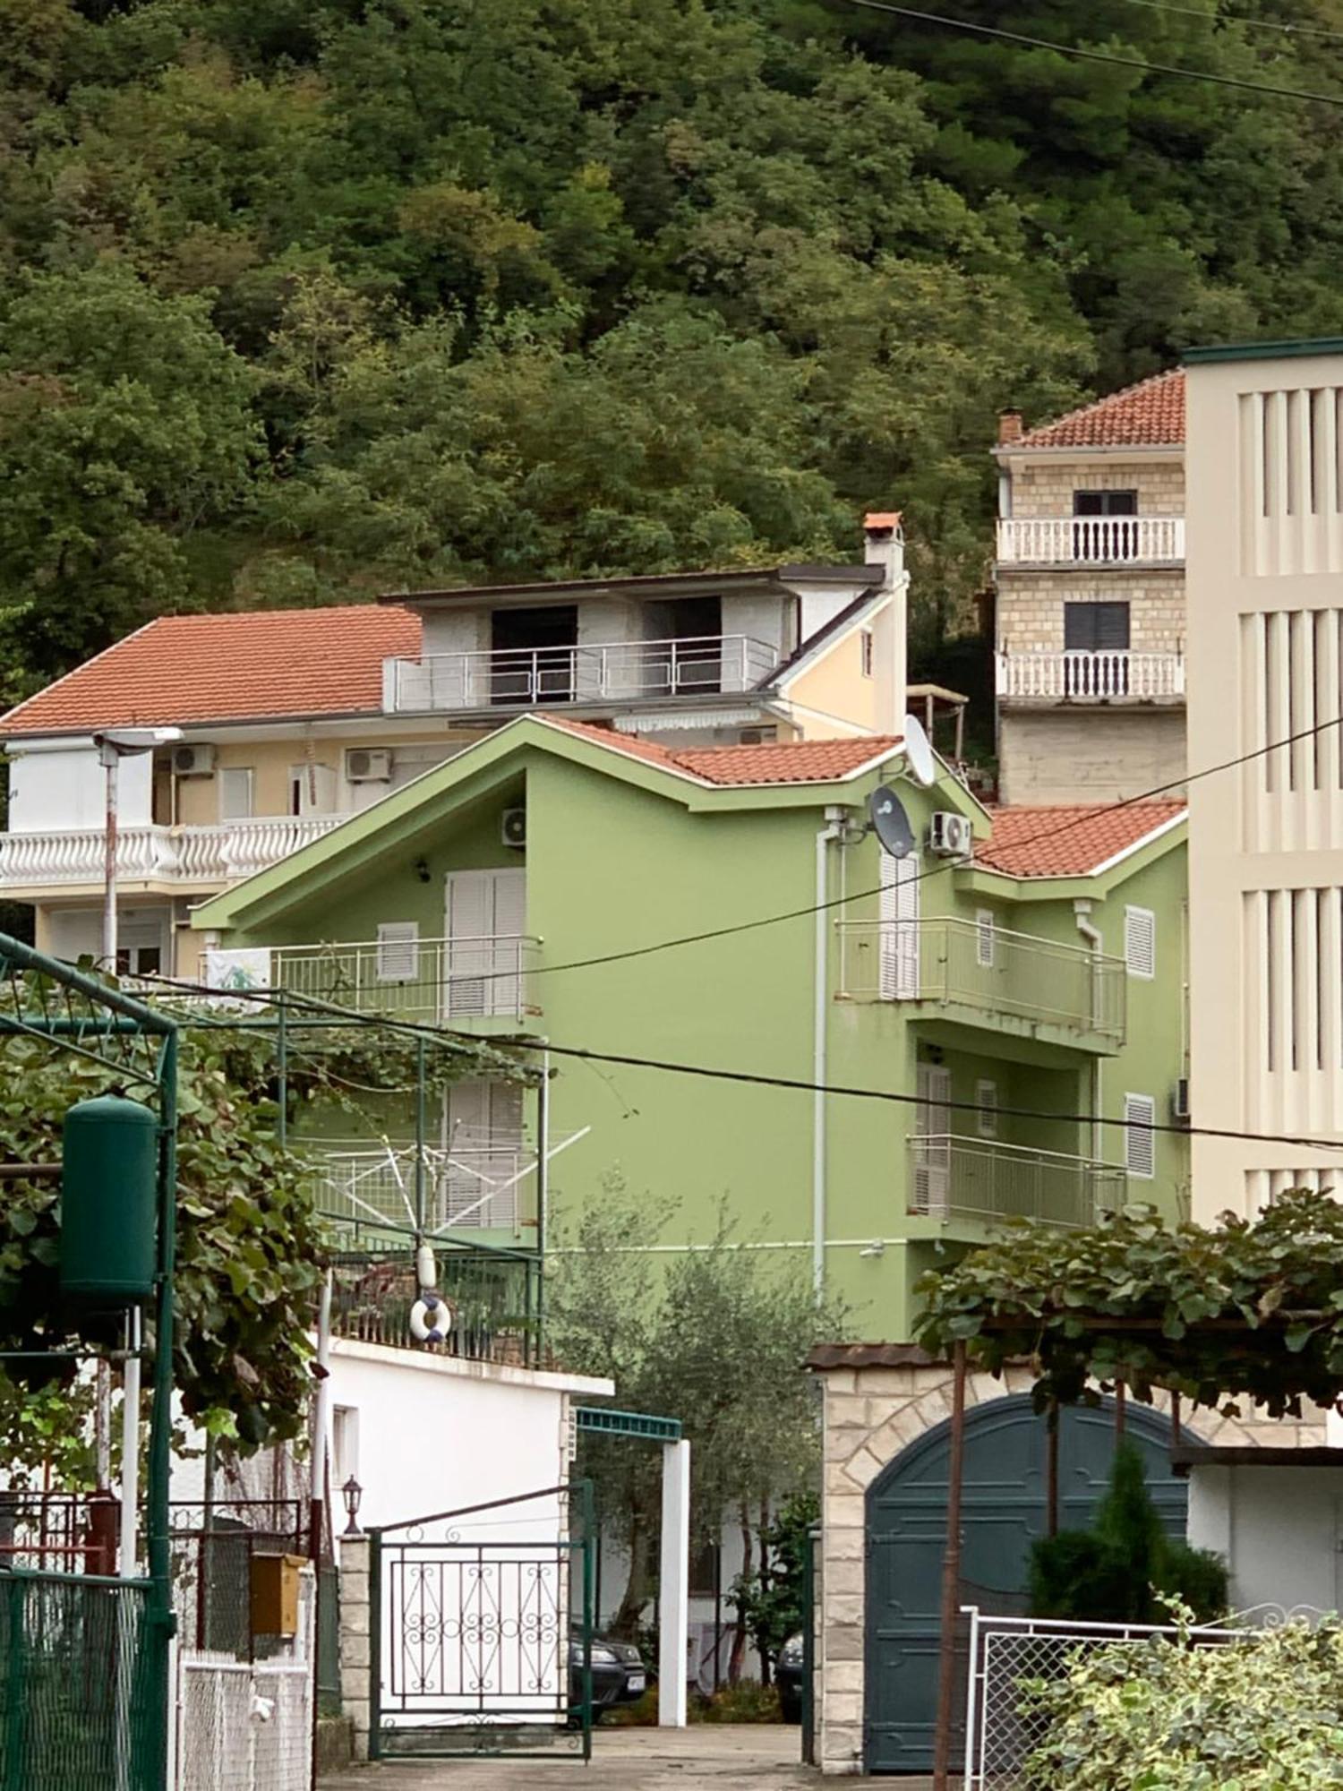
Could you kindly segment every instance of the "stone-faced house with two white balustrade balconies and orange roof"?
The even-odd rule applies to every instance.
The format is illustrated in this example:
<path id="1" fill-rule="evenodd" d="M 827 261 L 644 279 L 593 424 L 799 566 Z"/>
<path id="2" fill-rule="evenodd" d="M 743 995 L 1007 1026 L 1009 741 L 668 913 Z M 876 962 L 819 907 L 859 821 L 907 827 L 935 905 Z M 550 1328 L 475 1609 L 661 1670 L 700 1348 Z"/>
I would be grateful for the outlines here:
<path id="1" fill-rule="evenodd" d="M 1184 772 L 1184 374 L 999 421 L 1003 802 L 1112 802 Z"/>

